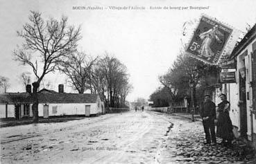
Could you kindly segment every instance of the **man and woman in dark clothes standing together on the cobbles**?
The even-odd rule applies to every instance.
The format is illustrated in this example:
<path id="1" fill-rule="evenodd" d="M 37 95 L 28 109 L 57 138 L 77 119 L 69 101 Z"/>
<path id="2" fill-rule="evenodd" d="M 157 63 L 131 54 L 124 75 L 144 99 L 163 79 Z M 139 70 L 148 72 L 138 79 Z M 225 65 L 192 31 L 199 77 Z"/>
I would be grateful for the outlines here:
<path id="1" fill-rule="evenodd" d="M 200 116 L 203 118 L 203 128 L 205 130 L 205 144 L 216 144 L 216 136 L 222 138 L 222 144 L 230 146 L 233 139 L 232 122 L 230 120 L 230 102 L 226 100 L 225 94 L 220 95 L 221 103 L 216 105 L 212 102 L 210 95 L 205 95 L 205 102 L 203 103 Z M 219 112 L 216 118 L 216 111 Z M 215 133 L 216 122 L 216 133 Z"/>

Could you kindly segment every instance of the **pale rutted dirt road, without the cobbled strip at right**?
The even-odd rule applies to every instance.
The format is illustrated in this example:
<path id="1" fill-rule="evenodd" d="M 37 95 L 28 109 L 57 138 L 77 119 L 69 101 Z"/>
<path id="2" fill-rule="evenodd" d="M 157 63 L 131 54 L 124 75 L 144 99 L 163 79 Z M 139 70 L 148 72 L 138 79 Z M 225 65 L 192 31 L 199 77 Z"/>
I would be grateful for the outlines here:
<path id="1" fill-rule="evenodd" d="M 155 163 L 171 122 L 146 112 L 1 128 L 1 163 Z"/>

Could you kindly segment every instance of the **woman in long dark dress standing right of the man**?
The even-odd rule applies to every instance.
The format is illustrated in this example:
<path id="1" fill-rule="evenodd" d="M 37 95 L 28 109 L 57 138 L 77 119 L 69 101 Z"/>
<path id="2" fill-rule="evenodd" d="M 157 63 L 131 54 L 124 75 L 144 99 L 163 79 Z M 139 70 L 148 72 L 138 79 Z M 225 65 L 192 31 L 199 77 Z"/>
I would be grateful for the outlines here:
<path id="1" fill-rule="evenodd" d="M 222 138 L 223 144 L 231 145 L 233 139 L 232 122 L 230 120 L 230 102 L 226 100 L 224 94 L 221 94 L 222 102 L 218 104 L 218 120 L 217 120 L 217 132 L 216 136 Z"/>

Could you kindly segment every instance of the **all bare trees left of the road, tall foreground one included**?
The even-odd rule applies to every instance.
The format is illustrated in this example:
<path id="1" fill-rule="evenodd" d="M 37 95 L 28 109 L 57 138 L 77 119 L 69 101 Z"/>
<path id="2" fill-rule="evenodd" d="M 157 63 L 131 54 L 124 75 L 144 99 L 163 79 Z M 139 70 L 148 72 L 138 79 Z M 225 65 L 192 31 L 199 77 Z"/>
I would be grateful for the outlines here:
<path id="1" fill-rule="evenodd" d="M 105 53 L 103 58 L 90 57 L 77 50 L 82 38 L 81 28 L 69 26 L 67 17 L 60 20 L 42 18 L 40 12 L 31 11 L 28 23 L 17 36 L 24 40 L 13 55 L 23 65 L 31 66 L 35 75 L 33 82 L 33 121 L 38 121 L 37 91 L 49 73 L 60 71 L 67 77 L 67 82 L 78 93 L 89 89 L 99 93 L 107 107 L 121 107 L 132 86 L 128 82 L 128 73 L 116 57 Z M 24 75 L 26 78 L 26 75 Z M 25 80 L 27 82 L 27 80 Z"/>

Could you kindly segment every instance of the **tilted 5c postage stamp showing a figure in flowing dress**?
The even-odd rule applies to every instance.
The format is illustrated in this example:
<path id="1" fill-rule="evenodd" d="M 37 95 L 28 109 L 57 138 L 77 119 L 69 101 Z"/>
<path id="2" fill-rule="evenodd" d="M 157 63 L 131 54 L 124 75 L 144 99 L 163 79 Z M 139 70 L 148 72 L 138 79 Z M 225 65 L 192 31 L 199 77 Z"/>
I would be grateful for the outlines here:
<path id="1" fill-rule="evenodd" d="M 207 64 L 218 64 L 226 51 L 225 47 L 232 31 L 232 28 L 225 26 L 216 19 L 203 15 L 186 51 Z"/>

